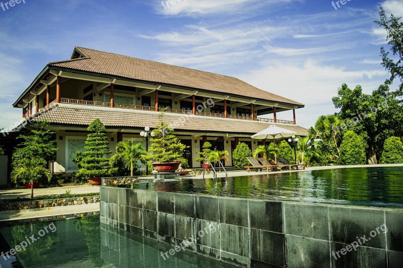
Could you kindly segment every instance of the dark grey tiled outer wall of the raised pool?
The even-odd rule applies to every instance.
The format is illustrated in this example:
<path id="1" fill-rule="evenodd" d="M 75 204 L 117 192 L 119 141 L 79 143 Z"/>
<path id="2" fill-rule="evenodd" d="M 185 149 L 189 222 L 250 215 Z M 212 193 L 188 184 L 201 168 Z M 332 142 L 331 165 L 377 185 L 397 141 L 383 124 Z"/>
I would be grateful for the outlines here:
<path id="1" fill-rule="evenodd" d="M 401 267 L 403 210 L 101 187 L 102 223 L 245 267 Z M 370 232 L 386 225 L 386 234 Z M 385 226 L 384 225 L 384 226 Z M 214 226 L 217 232 L 197 236 Z M 213 228 L 213 229 L 214 229 Z M 347 246 L 366 236 L 357 250 Z M 343 255 L 341 252 L 345 252 Z M 332 252 L 339 251 L 335 259 Z M 336 255 L 337 256 L 337 255 Z"/>

